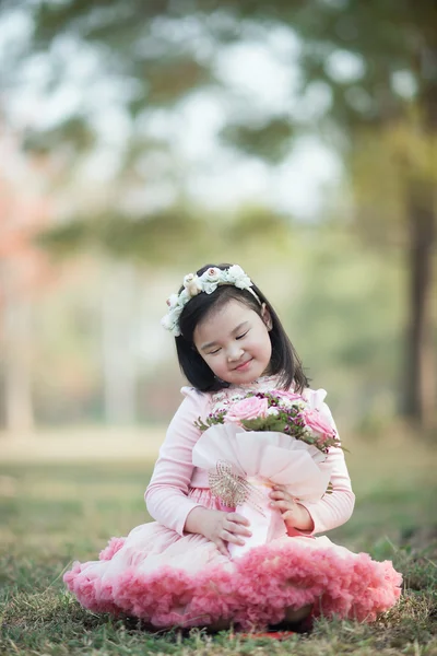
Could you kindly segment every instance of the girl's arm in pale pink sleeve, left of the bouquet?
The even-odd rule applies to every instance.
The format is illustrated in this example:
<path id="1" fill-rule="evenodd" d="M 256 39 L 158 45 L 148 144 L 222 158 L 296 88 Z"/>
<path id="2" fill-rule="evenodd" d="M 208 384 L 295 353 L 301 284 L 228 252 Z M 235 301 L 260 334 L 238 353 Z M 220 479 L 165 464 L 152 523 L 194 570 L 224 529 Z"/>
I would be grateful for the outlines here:
<path id="1" fill-rule="evenodd" d="M 181 391 L 186 398 L 168 426 L 144 495 L 151 516 L 179 535 L 184 535 L 188 514 L 200 505 L 187 494 L 194 468 L 191 454 L 200 436 L 194 421 L 208 414 L 210 402 L 209 395 L 193 388 Z"/>

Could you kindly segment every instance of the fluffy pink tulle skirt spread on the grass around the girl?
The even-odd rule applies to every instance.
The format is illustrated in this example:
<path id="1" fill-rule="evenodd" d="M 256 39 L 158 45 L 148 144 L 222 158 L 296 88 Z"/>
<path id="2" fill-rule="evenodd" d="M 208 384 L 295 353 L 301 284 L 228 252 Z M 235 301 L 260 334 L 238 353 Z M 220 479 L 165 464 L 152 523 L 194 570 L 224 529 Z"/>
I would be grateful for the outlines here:
<path id="1" fill-rule="evenodd" d="M 223 509 L 210 490 L 190 497 Z M 182 537 L 157 522 L 113 538 L 98 561 L 75 562 L 63 576 L 95 612 L 144 619 L 156 628 L 232 620 L 245 630 L 281 622 L 285 610 L 314 605 L 315 616 L 373 621 L 400 596 L 401 575 L 327 537 L 283 537 L 226 558 L 203 536 Z"/>

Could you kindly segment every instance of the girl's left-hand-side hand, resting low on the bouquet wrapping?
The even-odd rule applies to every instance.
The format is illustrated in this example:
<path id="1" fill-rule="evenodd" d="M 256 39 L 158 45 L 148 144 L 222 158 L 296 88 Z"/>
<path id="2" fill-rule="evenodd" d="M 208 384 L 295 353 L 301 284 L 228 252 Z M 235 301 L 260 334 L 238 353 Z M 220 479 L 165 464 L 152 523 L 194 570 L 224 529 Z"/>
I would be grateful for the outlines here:
<path id="1" fill-rule="evenodd" d="M 251 536 L 248 528 L 249 520 L 237 513 L 223 511 L 209 511 L 196 507 L 189 513 L 185 529 L 204 536 L 217 547 L 223 555 L 229 557 L 226 542 L 244 544 L 241 536 Z"/>

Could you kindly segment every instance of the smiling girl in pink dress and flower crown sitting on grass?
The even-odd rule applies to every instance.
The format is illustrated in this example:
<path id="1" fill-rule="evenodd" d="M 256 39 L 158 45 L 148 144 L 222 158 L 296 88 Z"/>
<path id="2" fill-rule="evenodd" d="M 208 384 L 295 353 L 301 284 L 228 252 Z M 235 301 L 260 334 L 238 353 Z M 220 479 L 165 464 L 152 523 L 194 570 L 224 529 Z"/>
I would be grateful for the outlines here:
<path id="1" fill-rule="evenodd" d="M 262 629 L 311 611 L 374 620 L 395 604 L 401 576 L 389 561 L 315 537 L 353 511 L 341 448 L 331 447 L 327 458 L 332 493 L 303 502 L 274 487 L 271 504 L 286 534 L 234 559 L 228 544 L 244 544 L 251 526 L 212 495 L 208 471 L 192 465 L 200 436 L 194 422 L 238 393 L 293 389 L 329 412 L 324 390 L 308 388 L 273 307 L 237 265 L 208 265 L 186 276 L 167 304 L 162 323 L 176 339 L 191 387 L 182 387 L 145 492 L 156 522 L 113 538 L 98 561 L 74 563 L 64 575 L 68 587 L 93 611 L 134 616 L 153 628 Z"/>

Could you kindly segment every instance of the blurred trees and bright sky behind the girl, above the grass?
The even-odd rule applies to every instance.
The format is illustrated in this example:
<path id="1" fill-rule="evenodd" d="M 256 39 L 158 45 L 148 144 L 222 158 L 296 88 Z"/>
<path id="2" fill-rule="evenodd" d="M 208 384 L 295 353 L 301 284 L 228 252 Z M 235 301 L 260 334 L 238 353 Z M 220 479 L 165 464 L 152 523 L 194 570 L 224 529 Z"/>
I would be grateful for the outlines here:
<path id="1" fill-rule="evenodd" d="M 432 444 L 436 25 L 412 0 L 3 0 L 3 453 L 162 440 L 165 300 L 222 261 L 343 434 Z"/>

